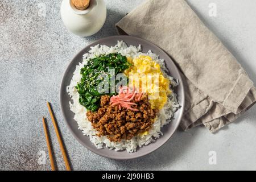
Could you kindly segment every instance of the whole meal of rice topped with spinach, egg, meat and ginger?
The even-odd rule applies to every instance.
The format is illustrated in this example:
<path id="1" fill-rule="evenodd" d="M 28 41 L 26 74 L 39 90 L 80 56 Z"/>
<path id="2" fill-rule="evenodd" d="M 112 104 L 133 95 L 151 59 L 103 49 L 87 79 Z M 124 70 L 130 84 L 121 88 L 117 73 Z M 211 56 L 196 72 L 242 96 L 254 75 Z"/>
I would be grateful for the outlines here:
<path id="1" fill-rule="evenodd" d="M 179 109 L 164 60 L 118 41 L 91 47 L 76 66 L 67 92 L 82 133 L 97 148 L 135 152 L 163 135 Z"/>

